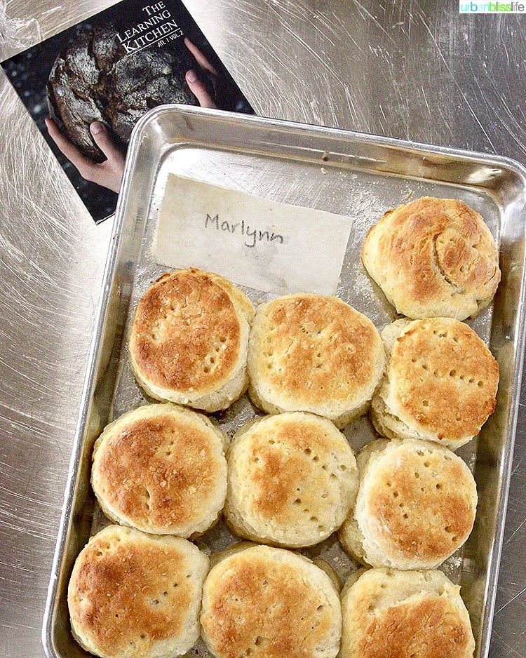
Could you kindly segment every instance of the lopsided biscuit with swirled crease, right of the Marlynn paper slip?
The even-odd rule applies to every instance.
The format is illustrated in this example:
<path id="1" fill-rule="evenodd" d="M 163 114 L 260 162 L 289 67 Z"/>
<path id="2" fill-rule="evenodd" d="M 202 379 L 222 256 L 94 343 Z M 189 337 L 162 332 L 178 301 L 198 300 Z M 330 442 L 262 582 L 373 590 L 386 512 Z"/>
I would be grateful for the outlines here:
<path id="1" fill-rule="evenodd" d="M 362 261 L 410 318 L 474 316 L 490 304 L 501 276 L 483 217 L 462 201 L 430 196 L 388 210 L 365 236 Z"/>

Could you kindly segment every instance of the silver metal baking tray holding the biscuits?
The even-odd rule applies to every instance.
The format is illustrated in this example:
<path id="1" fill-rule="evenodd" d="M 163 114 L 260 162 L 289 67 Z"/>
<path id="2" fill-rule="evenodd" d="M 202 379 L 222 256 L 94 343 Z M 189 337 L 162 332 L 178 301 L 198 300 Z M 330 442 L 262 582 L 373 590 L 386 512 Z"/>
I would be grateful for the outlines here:
<path id="1" fill-rule="evenodd" d="M 107 523 L 90 488 L 91 452 L 107 422 L 147 401 L 128 363 L 127 326 L 135 304 L 166 267 L 151 243 L 168 173 L 273 201 L 353 217 L 337 295 L 378 328 L 396 315 L 360 264 L 367 229 L 385 210 L 419 196 L 461 199 L 485 217 L 500 253 L 494 302 L 469 324 L 499 361 L 497 409 L 480 435 L 458 451 L 478 487 L 475 527 L 442 569 L 458 584 L 471 616 L 476 656 L 489 651 L 511 457 L 518 412 L 525 304 L 526 171 L 508 159 L 287 121 L 167 105 L 135 127 L 119 196 L 97 325 L 50 579 L 43 645 L 51 658 L 86 657 L 72 638 L 67 583 L 90 535 Z M 244 288 L 257 303 L 269 298 Z M 215 415 L 232 434 L 257 415 L 247 396 Z M 344 430 L 353 448 L 375 438 L 362 417 Z M 208 553 L 235 541 L 222 523 L 198 545 Z M 302 551 L 328 560 L 342 579 L 356 569 L 335 535 Z M 198 643 L 192 656 L 208 656 Z"/>

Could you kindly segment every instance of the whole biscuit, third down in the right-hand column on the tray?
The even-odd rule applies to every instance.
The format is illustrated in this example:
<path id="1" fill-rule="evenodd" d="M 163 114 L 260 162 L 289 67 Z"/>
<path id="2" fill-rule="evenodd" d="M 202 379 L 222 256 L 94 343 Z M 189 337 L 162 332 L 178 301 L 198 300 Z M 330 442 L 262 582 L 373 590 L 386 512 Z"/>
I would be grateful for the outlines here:
<path id="1" fill-rule="evenodd" d="M 429 441 L 372 441 L 356 459 L 356 506 L 339 530 L 351 556 L 374 567 L 433 569 L 464 544 L 477 490 L 465 462 Z"/>

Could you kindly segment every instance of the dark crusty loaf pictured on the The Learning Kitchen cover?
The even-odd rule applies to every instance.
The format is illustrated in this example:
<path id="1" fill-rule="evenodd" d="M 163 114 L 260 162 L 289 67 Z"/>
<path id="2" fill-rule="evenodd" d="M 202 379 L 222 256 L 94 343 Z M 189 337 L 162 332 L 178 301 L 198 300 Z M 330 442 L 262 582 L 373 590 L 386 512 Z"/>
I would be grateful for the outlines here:
<path id="1" fill-rule="evenodd" d="M 198 67 L 182 39 L 177 50 L 152 46 L 126 55 L 116 29 L 83 29 L 51 69 L 50 116 L 84 155 L 101 162 L 105 156 L 93 142 L 90 123 L 105 123 L 119 146 L 126 147 L 148 109 L 163 103 L 198 105 L 184 79 L 189 69 Z"/>

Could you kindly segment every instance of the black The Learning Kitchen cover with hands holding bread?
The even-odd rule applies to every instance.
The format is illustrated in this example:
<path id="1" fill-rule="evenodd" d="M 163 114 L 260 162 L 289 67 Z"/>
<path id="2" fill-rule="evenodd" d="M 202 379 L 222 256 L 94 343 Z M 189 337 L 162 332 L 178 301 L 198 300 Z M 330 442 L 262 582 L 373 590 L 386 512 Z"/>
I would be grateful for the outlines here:
<path id="1" fill-rule="evenodd" d="M 123 0 L 1 66 L 95 222 L 115 210 L 131 131 L 149 109 L 253 112 L 180 0 Z"/>

